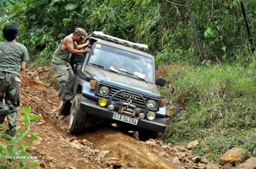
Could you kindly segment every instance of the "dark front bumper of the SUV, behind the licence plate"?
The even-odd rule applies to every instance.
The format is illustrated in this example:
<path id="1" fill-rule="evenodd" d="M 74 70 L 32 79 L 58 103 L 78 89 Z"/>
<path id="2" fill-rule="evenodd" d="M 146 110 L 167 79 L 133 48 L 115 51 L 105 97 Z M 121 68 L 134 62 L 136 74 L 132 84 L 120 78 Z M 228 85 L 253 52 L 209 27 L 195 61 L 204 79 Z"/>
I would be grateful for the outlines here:
<path id="1" fill-rule="evenodd" d="M 114 114 L 119 114 L 119 113 L 110 111 L 106 108 L 103 108 L 103 107 L 100 107 L 100 106 L 97 106 L 94 104 L 89 104 L 86 102 L 81 102 L 80 109 L 85 110 L 86 113 L 89 113 L 91 115 L 104 117 L 104 118 L 107 118 L 107 119 L 110 119 L 113 121 L 118 121 L 119 123 L 124 123 L 127 125 L 131 125 L 133 127 L 141 128 L 141 129 L 146 129 L 146 130 L 151 130 L 151 131 L 156 131 L 156 132 L 161 132 L 161 133 L 164 132 L 166 129 L 165 124 L 156 123 L 154 121 L 149 121 L 146 119 L 136 118 L 136 119 L 138 119 L 137 125 L 132 125 L 129 123 L 125 123 L 123 121 L 115 120 L 115 119 L 113 119 Z M 130 118 L 135 118 L 135 117 L 128 116 L 126 114 L 121 114 L 121 115 L 130 117 Z"/>

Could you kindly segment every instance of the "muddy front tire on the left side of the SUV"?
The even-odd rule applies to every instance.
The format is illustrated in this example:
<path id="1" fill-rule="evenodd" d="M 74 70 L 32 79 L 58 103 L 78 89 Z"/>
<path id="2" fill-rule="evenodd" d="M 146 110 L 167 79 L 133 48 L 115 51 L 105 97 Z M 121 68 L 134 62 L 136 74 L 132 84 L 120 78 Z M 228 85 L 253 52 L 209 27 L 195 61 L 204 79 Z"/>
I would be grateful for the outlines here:
<path id="1" fill-rule="evenodd" d="M 82 95 L 76 94 L 70 109 L 70 116 L 69 116 L 69 133 L 70 134 L 81 134 L 85 128 L 87 113 L 80 110 L 81 99 L 82 99 Z"/>

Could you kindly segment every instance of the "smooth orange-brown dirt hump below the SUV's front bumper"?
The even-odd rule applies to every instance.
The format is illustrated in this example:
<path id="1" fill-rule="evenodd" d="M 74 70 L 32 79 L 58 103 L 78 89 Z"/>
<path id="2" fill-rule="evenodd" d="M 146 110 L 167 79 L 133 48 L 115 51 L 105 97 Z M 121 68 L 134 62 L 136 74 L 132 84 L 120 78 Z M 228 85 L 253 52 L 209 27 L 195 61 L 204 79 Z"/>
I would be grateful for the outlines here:
<path id="1" fill-rule="evenodd" d="M 136 140 L 133 135 L 120 131 L 116 127 L 96 126 L 96 129 L 79 136 L 93 142 L 99 150 L 109 150 L 110 156 L 119 158 L 122 164 L 132 163 L 141 169 L 176 169 L 164 157 L 160 157 L 144 142 Z"/>

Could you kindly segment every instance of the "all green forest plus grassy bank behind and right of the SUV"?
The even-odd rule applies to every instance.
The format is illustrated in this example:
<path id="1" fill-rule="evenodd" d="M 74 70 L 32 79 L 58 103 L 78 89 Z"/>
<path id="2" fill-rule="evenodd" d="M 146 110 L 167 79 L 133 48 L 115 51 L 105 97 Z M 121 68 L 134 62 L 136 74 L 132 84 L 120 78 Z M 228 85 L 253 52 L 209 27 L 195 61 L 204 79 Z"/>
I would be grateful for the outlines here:
<path id="1" fill-rule="evenodd" d="M 172 144 L 198 139 L 211 159 L 232 147 L 255 156 L 256 0 L 0 3 L 0 41 L 4 25 L 16 24 L 34 65 L 50 65 L 60 40 L 76 27 L 147 44 L 157 68 L 183 63 L 165 70 L 167 83 L 159 88 L 175 106 L 161 138 Z M 201 147 L 194 152 L 202 155 Z"/>

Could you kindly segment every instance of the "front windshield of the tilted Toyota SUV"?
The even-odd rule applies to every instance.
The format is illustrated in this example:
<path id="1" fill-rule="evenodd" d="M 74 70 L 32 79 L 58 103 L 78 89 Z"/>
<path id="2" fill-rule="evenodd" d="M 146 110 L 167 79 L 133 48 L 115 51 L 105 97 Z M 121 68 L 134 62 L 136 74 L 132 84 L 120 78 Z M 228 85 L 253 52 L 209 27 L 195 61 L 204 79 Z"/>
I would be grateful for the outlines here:
<path id="1" fill-rule="evenodd" d="M 110 68 L 127 76 L 132 76 L 132 73 L 147 82 L 154 83 L 154 61 L 145 56 L 96 43 L 88 64 L 90 63 Z"/>

